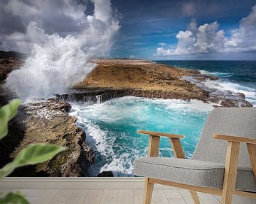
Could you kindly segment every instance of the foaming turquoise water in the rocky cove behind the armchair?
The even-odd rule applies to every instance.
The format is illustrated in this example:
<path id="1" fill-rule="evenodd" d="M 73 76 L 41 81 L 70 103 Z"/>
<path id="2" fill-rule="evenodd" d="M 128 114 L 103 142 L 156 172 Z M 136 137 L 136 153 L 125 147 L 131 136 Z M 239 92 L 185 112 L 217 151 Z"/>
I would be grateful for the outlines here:
<path id="1" fill-rule="evenodd" d="M 96 153 L 90 174 L 112 171 L 114 176 L 132 176 L 134 159 L 146 156 L 148 136 L 136 130 L 185 135 L 181 141 L 191 157 L 203 123 L 213 108 L 201 101 L 149 99 L 127 96 L 92 106 L 71 104 L 71 115 L 87 134 L 86 142 Z M 173 157 L 169 140 L 162 138 L 160 156 Z"/>

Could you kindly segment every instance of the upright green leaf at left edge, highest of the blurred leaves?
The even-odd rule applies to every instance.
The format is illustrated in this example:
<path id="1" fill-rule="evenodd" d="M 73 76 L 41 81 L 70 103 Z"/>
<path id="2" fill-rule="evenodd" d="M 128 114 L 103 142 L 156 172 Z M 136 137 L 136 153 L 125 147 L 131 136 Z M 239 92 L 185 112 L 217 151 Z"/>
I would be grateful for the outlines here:
<path id="1" fill-rule="evenodd" d="M 0 140 L 8 133 L 8 122 L 17 114 L 21 100 L 14 99 L 6 106 L 0 108 Z"/>

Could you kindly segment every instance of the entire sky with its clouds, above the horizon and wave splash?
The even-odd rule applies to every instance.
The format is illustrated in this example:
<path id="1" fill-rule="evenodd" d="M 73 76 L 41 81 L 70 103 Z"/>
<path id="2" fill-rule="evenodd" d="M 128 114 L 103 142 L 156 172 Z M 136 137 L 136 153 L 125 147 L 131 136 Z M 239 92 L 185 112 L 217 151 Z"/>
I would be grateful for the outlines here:
<path id="1" fill-rule="evenodd" d="M 256 60 L 255 36 L 255 0 L 0 2 L 0 50 L 58 43 L 91 57 Z"/>

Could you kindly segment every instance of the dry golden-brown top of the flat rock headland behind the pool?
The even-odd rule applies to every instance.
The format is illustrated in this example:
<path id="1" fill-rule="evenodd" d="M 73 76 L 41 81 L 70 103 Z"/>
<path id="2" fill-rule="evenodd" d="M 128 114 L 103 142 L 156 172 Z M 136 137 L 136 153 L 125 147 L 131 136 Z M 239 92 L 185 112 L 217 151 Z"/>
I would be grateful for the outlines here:
<path id="1" fill-rule="evenodd" d="M 186 75 L 200 74 L 144 60 L 92 60 L 97 67 L 74 88 L 80 90 L 126 90 L 132 96 L 198 99 L 205 101 L 207 91 L 189 81 Z M 162 94 L 161 94 L 162 93 Z"/>

